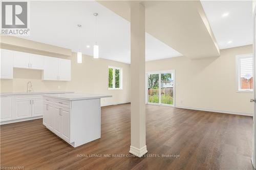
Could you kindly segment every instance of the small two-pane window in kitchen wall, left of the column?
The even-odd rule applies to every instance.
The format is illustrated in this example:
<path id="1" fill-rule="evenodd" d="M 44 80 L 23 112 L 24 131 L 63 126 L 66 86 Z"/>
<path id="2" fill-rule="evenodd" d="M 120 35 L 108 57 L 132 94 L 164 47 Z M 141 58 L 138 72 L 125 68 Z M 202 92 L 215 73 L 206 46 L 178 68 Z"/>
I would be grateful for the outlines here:
<path id="1" fill-rule="evenodd" d="M 122 69 L 109 66 L 109 89 L 122 89 Z"/>

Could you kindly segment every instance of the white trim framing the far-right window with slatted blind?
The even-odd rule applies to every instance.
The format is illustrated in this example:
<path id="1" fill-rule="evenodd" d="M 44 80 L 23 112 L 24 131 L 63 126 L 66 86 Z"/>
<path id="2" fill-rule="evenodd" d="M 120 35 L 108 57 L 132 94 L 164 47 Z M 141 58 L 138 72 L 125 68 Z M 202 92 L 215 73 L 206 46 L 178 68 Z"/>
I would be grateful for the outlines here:
<path id="1" fill-rule="evenodd" d="M 236 56 L 236 86 L 237 86 L 237 92 L 245 92 L 245 93 L 252 93 L 253 92 L 253 89 L 252 90 L 243 90 L 243 89 L 240 89 L 240 59 L 241 58 L 250 58 L 252 57 L 252 64 L 254 65 L 254 59 L 253 59 L 253 54 L 243 54 L 243 55 L 237 55 Z M 253 68 L 253 67 L 252 67 Z M 254 70 L 253 70 L 253 77 L 254 77 Z M 253 84 L 254 84 L 254 79 L 253 79 Z M 254 87 L 253 87 L 254 88 Z"/>

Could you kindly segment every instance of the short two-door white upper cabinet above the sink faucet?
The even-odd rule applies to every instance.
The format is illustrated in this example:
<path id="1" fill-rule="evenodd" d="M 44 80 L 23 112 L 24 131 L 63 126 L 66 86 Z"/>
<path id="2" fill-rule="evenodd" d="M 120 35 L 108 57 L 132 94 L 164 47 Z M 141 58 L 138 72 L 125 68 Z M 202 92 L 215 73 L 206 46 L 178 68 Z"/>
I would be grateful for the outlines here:
<path id="1" fill-rule="evenodd" d="M 13 67 L 44 69 L 44 56 L 23 52 L 13 52 L 13 55 Z"/>

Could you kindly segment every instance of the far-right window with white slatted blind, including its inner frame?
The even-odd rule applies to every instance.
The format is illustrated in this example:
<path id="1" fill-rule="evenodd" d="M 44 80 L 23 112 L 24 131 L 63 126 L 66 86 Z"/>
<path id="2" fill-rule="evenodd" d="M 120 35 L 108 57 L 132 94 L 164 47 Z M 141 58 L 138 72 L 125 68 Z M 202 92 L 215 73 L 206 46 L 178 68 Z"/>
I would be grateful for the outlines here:
<path id="1" fill-rule="evenodd" d="M 253 90 L 253 58 L 252 54 L 239 55 L 237 63 L 238 91 L 250 92 Z"/>

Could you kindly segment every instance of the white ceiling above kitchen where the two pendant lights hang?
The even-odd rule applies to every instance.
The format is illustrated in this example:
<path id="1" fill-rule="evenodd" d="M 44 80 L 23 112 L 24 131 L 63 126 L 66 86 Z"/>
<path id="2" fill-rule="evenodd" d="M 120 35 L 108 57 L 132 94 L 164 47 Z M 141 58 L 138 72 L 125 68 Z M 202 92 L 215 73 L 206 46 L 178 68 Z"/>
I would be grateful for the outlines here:
<path id="1" fill-rule="evenodd" d="M 31 34 L 22 38 L 93 55 L 95 16 L 100 58 L 130 63 L 130 22 L 95 1 L 31 1 Z M 82 25 L 81 34 L 77 25 Z M 146 61 L 181 56 L 146 33 Z M 90 45 L 90 48 L 87 48 Z"/>

